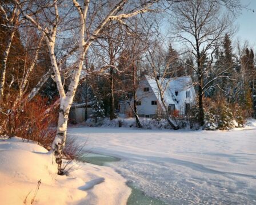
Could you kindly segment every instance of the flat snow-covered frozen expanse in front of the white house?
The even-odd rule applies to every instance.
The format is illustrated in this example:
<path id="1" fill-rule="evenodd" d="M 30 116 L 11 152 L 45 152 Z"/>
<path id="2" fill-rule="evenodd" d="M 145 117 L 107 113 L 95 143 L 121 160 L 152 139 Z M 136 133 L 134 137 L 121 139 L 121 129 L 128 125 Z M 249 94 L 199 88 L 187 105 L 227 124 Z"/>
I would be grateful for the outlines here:
<path id="1" fill-rule="evenodd" d="M 256 204 L 256 129 L 190 132 L 70 128 L 114 168 L 167 204 Z"/>

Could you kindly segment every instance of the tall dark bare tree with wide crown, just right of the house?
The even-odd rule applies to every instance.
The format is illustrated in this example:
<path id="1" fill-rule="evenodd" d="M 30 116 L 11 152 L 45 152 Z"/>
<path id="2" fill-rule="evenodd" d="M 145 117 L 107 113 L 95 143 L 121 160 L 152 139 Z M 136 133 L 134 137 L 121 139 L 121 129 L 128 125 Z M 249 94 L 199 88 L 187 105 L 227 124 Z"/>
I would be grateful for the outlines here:
<path id="1" fill-rule="evenodd" d="M 196 61 L 196 65 L 189 65 L 197 76 L 195 85 L 198 88 L 199 124 L 204 124 L 203 95 L 210 87 L 218 87 L 214 82 L 222 77 L 225 71 L 215 73 L 212 80 L 204 83 L 213 63 L 213 55 L 218 48 L 218 42 L 222 42 L 226 32 L 230 31 L 231 17 L 226 11 L 221 10 L 220 3 L 232 3 L 231 1 L 202 1 L 189 0 L 177 3 L 173 6 L 171 23 L 174 36 L 185 44 Z M 235 3 L 235 2 L 233 2 Z M 205 58 L 209 58 L 206 66 L 203 66 Z M 180 59 L 182 60 L 182 59 Z M 184 64 L 184 62 L 182 60 Z M 229 69 L 229 68 L 228 68 Z"/>

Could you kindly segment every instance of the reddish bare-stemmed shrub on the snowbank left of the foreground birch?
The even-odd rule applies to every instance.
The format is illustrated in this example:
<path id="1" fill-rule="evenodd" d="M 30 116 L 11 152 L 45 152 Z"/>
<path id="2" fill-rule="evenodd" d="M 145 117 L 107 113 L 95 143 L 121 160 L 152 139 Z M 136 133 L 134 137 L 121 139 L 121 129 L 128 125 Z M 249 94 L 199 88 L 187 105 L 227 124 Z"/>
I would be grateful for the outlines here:
<path id="1" fill-rule="evenodd" d="M 17 136 L 24 140 L 38 142 L 39 145 L 50 149 L 53 143 L 57 123 L 58 109 L 47 105 L 47 99 L 40 96 L 33 101 L 27 102 L 26 98 L 13 105 L 15 96 L 9 97 L 6 103 L 2 104 L 1 121 L 2 134 L 9 137 Z M 3 114 L 5 113 L 6 114 Z"/>

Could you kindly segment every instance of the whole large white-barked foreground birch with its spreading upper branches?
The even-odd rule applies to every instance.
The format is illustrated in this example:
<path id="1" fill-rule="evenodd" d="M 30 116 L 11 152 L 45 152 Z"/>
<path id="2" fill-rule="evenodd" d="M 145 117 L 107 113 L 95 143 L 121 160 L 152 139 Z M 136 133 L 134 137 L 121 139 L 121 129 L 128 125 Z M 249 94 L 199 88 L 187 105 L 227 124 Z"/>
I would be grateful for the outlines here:
<path id="1" fill-rule="evenodd" d="M 125 23 L 124 20 L 127 18 L 150 11 L 153 4 L 157 1 L 135 3 L 128 0 L 121 0 L 114 3 L 114 6 L 107 11 L 106 14 L 101 13 L 101 7 L 105 6 L 104 1 L 99 1 L 97 4 L 95 4 L 94 2 L 85 0 L 80 5 L 80 3 L 76 0 L 73 0 L 73 2 L 67 1 L 65 2 L 66 4 L 62 1 L 54 0 L 43 2 L 42 5 L 37 5 L 35 7 L 30 7 L 29 2 L 27 1 L 14 1 L 19 7 L 19 10 L 21 10 L 23 17 L 25 17 L 44 36 L 49 50 L 54 80 L 57 83 L 60 96 L 57 135 L 53 142 L 53 153 L 55 156 L 55 161 L 58 164 L 58 174 L 63 174 L 62 157 L 63 148 L 65 147 L 66 142 L 69 110 L 71 104 L 73 103 L 75 91 L 78 86 L 86 52 L 89 50 L 91 44 L 99 37 L 107 24 L 112 21 Z M 70 6 L 70 4 L 74 5 L 74 9 L 73 6 Z M 97 5 L 101 7 L 97 7 Z M 22 9 L 27 9 L 28 7 L 30 7 L 29 10 Z M 40 9 L 38 9 L 38 7 L 40 7 Z M 63 12 L 60 14 L 60 7 L 62 11 L 68 10 L 65 7 L 69 7 L 70 10 L 73 9 L 74 11 L 69 17 L 78 17 L 79 19 L 78 24 L 76 25 L 77 28 L 73 29 L 74 38 L 77 40 L 77 50 L 74 52 L 73 56 L 73 75 L 71 77 L 70 84 L 67 85 L 66 91 L 61 77 L 61 63 L 58 63 L 55 56 L 55 48 L 57 47 L 56 42 L 58 41 L 57 33 L 59 30 L 61 30 L 63 22 L 65 22 L 66 18 L 68 17 L 67 15 L 70 13 Z M 33 9 L 37 9 L 38 13 L 33 12 Z M 44 17 L 44 19 L 42 19 L 42 17 Z M 72 20 L 74 20 L 74 18 Z M 67 51 L 67 53 L 68 52 L 69 51 Z"/>

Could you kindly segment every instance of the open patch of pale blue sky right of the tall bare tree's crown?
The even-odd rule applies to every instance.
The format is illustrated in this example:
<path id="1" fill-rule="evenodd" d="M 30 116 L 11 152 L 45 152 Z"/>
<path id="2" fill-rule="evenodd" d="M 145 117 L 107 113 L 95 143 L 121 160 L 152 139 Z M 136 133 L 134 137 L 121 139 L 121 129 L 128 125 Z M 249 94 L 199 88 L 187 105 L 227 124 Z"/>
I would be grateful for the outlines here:
<path id="1" fill-rule="evenodd" d="M 241 40 L 248 40 L 250 46 L 256 47 L 256 0 L 241 0 L 243 5 L 249 5 L 243 9 L 236 20 L 239 30 L 234 36 Z M 254 10 L 254 12 L 252 11 Z"/>

